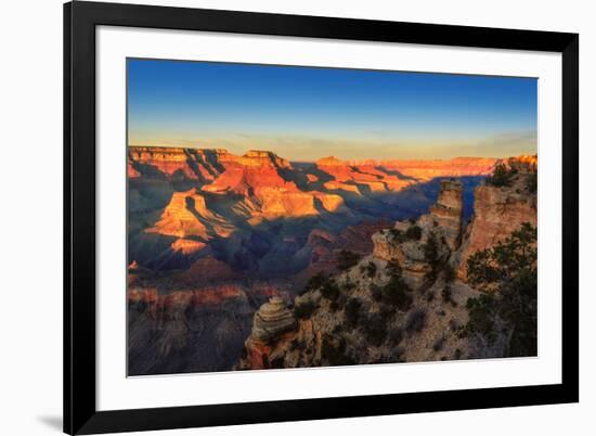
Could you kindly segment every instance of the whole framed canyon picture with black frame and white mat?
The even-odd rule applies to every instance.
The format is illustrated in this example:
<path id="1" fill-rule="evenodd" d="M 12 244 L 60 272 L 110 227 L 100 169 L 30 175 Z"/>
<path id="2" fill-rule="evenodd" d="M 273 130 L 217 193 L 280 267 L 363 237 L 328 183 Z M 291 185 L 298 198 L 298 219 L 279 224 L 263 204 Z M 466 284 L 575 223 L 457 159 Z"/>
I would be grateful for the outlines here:
<path id="1" fill-rule="evenodd" d="M 64 431 L 579 400 L 579 36 L 64 5 Z"/>

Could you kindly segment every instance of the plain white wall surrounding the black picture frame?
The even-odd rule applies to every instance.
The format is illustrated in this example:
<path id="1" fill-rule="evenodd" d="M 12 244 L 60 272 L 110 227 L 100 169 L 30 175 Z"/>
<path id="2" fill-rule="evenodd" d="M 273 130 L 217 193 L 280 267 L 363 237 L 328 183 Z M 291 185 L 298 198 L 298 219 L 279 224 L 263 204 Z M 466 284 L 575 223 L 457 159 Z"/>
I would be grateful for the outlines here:
<path id="1" fill-rule="evenodd" d="M 134 2 L 134 1 L 129 1 Z M 581 47 L 581 403 L 145 435 L 591 435 L 596 424 L 592 226 L 596 162 L 596 27 L 591 2 L 567 0 L 178 0 L 145 3 L 579 31 Z M 61 432 L 62 1 L 2 3 L 0 25 L 0 434 Z M 591 413 L 592 412 L 592 413 Z"/>

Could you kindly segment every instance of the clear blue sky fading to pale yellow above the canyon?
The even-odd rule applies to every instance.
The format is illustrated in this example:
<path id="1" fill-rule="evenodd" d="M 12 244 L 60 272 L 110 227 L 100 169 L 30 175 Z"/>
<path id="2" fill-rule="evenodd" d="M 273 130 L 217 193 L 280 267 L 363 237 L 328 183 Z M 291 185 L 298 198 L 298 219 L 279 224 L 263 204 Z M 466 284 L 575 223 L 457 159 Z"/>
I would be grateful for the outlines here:
<path id="1" fill-rule="evenodd" d="M 130 145 L 291 161 L 536 153 L 533 78 L 128 60 Z"/>

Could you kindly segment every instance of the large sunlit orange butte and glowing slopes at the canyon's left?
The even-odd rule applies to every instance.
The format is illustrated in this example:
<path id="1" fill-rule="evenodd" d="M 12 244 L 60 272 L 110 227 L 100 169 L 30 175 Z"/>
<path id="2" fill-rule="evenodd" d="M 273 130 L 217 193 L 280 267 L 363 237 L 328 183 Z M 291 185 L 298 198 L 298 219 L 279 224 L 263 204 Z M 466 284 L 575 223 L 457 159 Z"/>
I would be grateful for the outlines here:
<path id="1" fill-rule="evenodd" d="M 185 202 L 194 202 L 200 208 L 205 204 L 203 193 L 213 194 L 213 202 L 236 194 L 241 200 L 235 205 L 234 214 L 244 215 L 254 225 L 262 219 L 334 213 L 340 210 L 344 204 L 336 194 L 302 191 L 291 179 L 284 179 L 282 171 L 288 171 L 291 177 L 293 167 L 272 152 L 250 151 L 243 156 L 235 156 L 224 150 L 130 149 L 130 178 L 142 178 L 145 171 L 148 177 L 178 177 L 194 181 L 197 185 L 196 191 L 178 192 L 172 196 L 161 222 L 156 227 L 156 231 L 161 228 L 164 234 L 181 236 L 191 230 L 200 238 L 207 236 L 204 225 L 189 219 L 192 218 L 191 214 L 205 214 L 198 209 L 196 214 L 184 206 Z M 212 217 L 205 219 L 213 221 Z M 189 229 L 189 226 L 194 229 Z"/>

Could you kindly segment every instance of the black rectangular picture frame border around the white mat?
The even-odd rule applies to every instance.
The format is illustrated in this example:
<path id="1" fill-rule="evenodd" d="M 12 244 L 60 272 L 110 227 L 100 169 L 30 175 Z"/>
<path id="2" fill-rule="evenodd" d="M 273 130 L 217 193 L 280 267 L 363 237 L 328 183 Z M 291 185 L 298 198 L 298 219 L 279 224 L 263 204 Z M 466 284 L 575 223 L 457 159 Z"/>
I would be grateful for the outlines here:
<path id="1" fill-rule="evenodd" d="M 95 407 L 95 27 L 209 30 L 562 55 L 560 384 L 232 405 Z M 96 434 L 579 401 L 579 35 L 76 1 L 64 5 L 64 432 Z"/>

